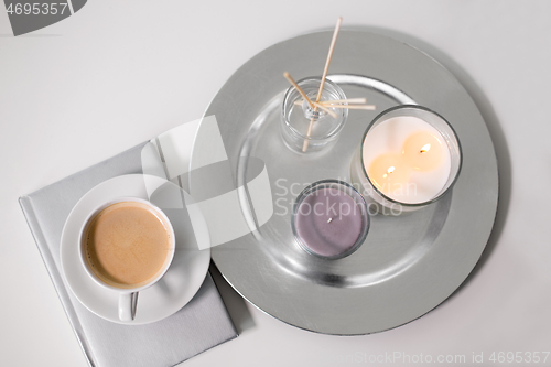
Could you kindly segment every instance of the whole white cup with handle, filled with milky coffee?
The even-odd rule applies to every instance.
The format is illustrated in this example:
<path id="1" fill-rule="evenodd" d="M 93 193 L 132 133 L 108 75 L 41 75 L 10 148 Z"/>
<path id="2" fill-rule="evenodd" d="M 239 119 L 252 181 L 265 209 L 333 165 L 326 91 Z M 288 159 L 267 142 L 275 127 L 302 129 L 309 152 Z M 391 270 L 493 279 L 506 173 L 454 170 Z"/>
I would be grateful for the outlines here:
<path id="1" fill-rule="evenodd" d="M 80 255 L 88 274 L 119 296 L 119 319 L 130 321 L 138 292 L 166 272 L 174 256 L 174 230 L 153 204 L 119 198 L 94 211 L 82 230 Z"/>

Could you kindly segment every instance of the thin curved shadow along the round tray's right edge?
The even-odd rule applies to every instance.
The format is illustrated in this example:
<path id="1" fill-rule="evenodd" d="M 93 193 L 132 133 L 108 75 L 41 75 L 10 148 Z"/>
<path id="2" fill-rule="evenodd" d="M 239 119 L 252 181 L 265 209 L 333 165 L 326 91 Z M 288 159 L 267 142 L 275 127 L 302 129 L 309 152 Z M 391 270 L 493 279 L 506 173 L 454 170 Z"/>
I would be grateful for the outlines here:
<path id="1" fill-rule="evenodd" d="M 484 267 L 484 263 L 491 256 L 491 252 L 494 251 L 499 240 L 499 237 L 501 236 L 505 222 L 507 219 L 507 214 L 509 211 L 509 203 L 511 196 L 511 160 L 509 154 L 509 148 L 507 145 L 507 139 L 504 134 L 501 126 L 499 125 L 494 108 L 491 107 L 491 104 L 489 102 L 484 91 L 480 89 L 480 87 L 478 87 L 475 79 L 473 79 L 473 77 L 471 77 L 471 75 L 468 75 L 468 73 L 461 65 L 458 65 L 453 58 L 451 58 L 444 52 L 432 46 L 429 43 L 425 43 L 422 40 L 419 40 L 409 34 L 404 34 L 393 30 L 375 28 L 375 26 L 350 26 L 348 29 L 358 31 L 368 31 L 386 35 L 395 40 L 402 41 L 429 54 L 431 57 L 441 63 L 445 68 L 447 68 L 457 78 L 457 80 L 460 80 L 460 83 L 473 98 L 484 120 L 486 121 L 486 126 L 491 137 L 491 141 L 494 142 L 494 148 L 496 150 L 498 172 L 499 172 L 499 202 L 498 202 L 496 220 L 494 223 L 494 228 L 491 229 L 491 235 L 488 239 L 488 244 L 486 245 L 486 248 L 484 249 L 480 259 L 476 263 L 473 271 L 465 279 L 465 281 L 449 298 L 450 300 L 455 294 L 458 294 L 465 287 L 465 284 L 467 284 L 472 279 L 476 278 L 480 268 Z"/>

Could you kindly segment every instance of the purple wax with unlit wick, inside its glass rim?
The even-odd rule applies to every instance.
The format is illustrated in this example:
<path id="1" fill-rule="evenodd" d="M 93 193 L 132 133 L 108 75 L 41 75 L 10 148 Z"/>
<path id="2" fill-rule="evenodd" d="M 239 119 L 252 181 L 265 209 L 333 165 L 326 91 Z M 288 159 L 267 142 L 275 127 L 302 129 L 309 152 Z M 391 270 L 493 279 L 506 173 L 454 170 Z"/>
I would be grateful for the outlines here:
<path id="1" fill-rule="evenodd" d="M 338 188 L 320 188 L 299 204 L 295 230 L 312 252 L 336 257 L 358 240 L 364 225 L 360 208 L 352 196 Z"/>

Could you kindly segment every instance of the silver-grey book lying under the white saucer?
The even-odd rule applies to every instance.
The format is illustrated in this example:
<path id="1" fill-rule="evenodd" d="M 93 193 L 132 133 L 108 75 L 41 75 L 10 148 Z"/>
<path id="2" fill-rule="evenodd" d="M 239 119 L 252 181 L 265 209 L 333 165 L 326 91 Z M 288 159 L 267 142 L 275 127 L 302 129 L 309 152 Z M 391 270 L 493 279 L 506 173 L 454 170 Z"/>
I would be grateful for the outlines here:
<path id="1" fill-rule="evenodd" d="M 95 315 L 64 283 L 60 242 L 72 208 L 97 184 L 115 176 L 141 173 L 143 145 L 20 198 L 44 265 L 90 366 L 174 366 L 237 337 L 210 273 L 183 309 L 147 325 L 121 325 Z"/>

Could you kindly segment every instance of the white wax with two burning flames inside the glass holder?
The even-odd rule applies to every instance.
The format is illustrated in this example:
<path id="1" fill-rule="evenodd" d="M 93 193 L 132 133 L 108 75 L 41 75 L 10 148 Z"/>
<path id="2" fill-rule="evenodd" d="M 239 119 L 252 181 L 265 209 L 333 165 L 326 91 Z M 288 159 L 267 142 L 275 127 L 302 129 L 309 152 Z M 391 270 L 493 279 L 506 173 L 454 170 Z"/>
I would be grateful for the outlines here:
<path id="1" fill-rule="evenodd" d="M 393 117 L 372 128 L 363 144 L 363 160 L 374 186 L 407 204 L 436 197 L 451 172 L 450 149 L 442 134 L 412 116 Z"/>

